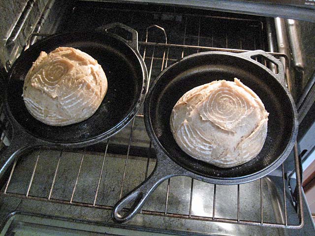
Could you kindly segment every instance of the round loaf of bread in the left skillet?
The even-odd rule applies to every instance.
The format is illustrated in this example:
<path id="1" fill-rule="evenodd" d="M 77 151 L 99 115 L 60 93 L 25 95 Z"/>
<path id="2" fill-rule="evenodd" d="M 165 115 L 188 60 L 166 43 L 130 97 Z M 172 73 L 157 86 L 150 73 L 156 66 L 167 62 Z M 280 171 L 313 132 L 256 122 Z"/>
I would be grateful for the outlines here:
<path id="1" fill-rule="evenodd" d="M 26 75 L 23 98 L 41 122 L 63 126 L 91 117 L 107 91 L 102 67 L 90 55 L 59 47 L 41 52 Z"/>

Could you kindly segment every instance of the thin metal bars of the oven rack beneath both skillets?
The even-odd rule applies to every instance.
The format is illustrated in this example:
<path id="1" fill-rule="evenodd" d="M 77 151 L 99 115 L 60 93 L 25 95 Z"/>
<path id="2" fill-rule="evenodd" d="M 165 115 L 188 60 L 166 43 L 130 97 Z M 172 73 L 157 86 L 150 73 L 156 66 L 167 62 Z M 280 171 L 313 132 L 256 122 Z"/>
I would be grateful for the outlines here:
<path id="1" fill-rule="evenodd" d="M 200 19 L 200 18 L 199 18 Z M 155 30 L 162 30 L 163 34 L 165 36 L 164 41 L 163 42 L 149 42 L 148 38 L 149 38 L 149 32 L 153 29 L 151 28 L 156 28 Z M 143 59 L 147 62 L 147 68 L 149 70 L 149 79 L 151 79 L 152 76 L 152 68 L 153 66 L 155 66 L 155 62 L 160 60 L 162 61 L 161 63 L 161 67 L 160 67 L 160 71 L 162 71 L 164 68 L 166 68 L 168 65 L 172 64 L 174 61 L 176 61 L 177 59 L 180 58 L 171 58 L 169 57 L 169 52 L 171 49 L 177 49 L 177 50 L 182 50 L 181 53 L 181 58 L 183 58 L 186 55 L 186 50 L 190 50 L 191 51 L 195 51 L 195 52 L 200 52 L 200 51 L 225 51 L 225 52 L 233 52 L 233 53 L 241 53 L 241 52 L 247 52 L 247 50 L 242 50 L 242 49 L 228 49 L 228 42 L 227 42 L 227 38 L 226 38 L 226 48 L 215 48 L 215 47 L 206 47 L 206 46 L 199 46 L 199 40 L 200 40 L 200 20 L 199 20 L 199 29 L 198 29 L 198 45 L 196 46 L 192 46 L 192 45 L 186 45 L 185 39 L 186 39 L 186 29 L 187 29 L 187 21 L 186 21 L 186 25 L 185 25 L 185 31 L 184 31 L 184 41 L 183 44 L 167 44 L 167 35 L 166 32 L 163 28 L 157 26 L 157 25 L 152 25 L 150 27 L 148 27 L 146 29 L 146 38 L 145 41 L 140 41 L 139 42 L 139 48 L 142 50 L 142 56 Z M 41 34 L 41 33 L 33 33 L 30 36 L 30 39 L 32 37 L 37 37 L 37 36 L 47 36 L 47 34 Z M 212 38 L 212 42 L 214 41 L 214 39 Z M 28 47 L 28 45 L 26 46 L 26 48 Z M 242 41 L 240 41 L 240 47 L 242 48 Z M 149 50 L 150 49 L 150 50 Z M 150 51 L 150 53 L 152 52 L 152 54 L 150 56 L 148 56 L 148 51 Z M 289 68 L 287 67 L 288 63 L 287 63 L 287 57 L 284 54 L 280 54 L 280 53 L 271 53 L 272 55 L 276 56 L 276 57 L 283 57 L 286 61 L 286 71 L 289 71 Z M 162 55 L 162 57 L 158 57 L 157 55 Z M 268 62 L 263 60 L 262 63 L 264 63 L 266 66 L 268 66 Z M 2 109 L 2 106 L 1 106 Z M 137 114 L 137 117 L 142 118 L 143 114 Z M 128 142 L 128 147 L 127 147 L 127 152 L 126 152 L 126 160 L 125 160 L 125 167 L 124 167 L 124 174 L 121 180 L 121 184 L 120 184 L 120 194 L 119 194 L 119 199 L 121 199 L 123 197 L 123 186 L 124 186 L 124 181 L 125 181 L 125 177 L 126 177 L 126 168 L 127 168 L 127 162 L 128 162 L 128 158 L 129 158 L 129 151 L 130 151 L 130 147 L 131 147 L 131 142 L 132 142 L 132 133 L 133 133 L 133 128 L 134 128 L 134 122 L 135 122 L 135 118 L 132 120 L 132 124 L 131 124 L 131 129 L 130 129 L 130 134 L 129 134 L 129 142 Z M 2 134 L 3 136 L 3 134 Z M 3 143 L 3 138 L 1 136 L 1 144 Z M 58 174 L 58 170 L 59 170 L 59 164 L 60 164 L 60 160 L 63 154 L 63 151 L 60 151 L 60 155 L 59 155 L 59 160 L 56 166 L 56 170 L 55 170 L 55 174 L 53 177 L 53 181 L 52 184 L 50 186 L 50 190 L 49 190 L 49 196 L 48 198 L 44 198 L 44 197 L 38 197 L 38 196 L 30 196 L 30 189 L 32 187 L 32 182 L 33 182 L 33 178 L 36 172 L 36 167 L 37 167 L 37 163 L 38 163 L 38 159 L 40 157 L 40 152 L 37 155 L 36 161 L 34 163 L 34 167 L 33 167 L 33 171 L 32 171 L 32 176 L 30 178 L 29 181 L 29 185 L 28 185 L 28 189 L 27 189 L 27 193 L 26 194 L 18 194 L 18 193 L 11 193 L 8 192 L 8 186 L 10 184 L 11 181 L 11 177 L 13 176 L 15 167 L 17 165 L 17 160 L 15 160 L 13 167 L 11 169 L 9 178 L 7 180 L 7 183 L 5 185 L 5 188 L 3 189 L 3 191 L 1 192 L 1 194 L 7 195 L 7 196 L 14 196 L 14 197 L 19 197 L 19 198 L 25 198 L 25 199 L 33 199 L 33 200 L 38 200 L 38 201 L 49 201 L 49 202 L 53 202 L 53 203 L 62 203 L 62 204 L 67 204 L 67 205 L 74 205 L 74 206 L 81 206 L 81 207 L 95 207 L 95 208 L 102 208 L 102 209 L 107 209 L 107 210 L 111 210 L 113 206 L 109 206 L 109 205 L 98 205 L 96 204 L 96 200 L 98 197 L 98 189 L 100 186 L 100 182 L 101 182 L 101 177 L 102 177 L 102 172 L 103 172 L 103 168 L 104 168 L 104 163 L 106 160 L 106 156 L 107 156 L 107 150 L 108 147 L 111 143 L 111 139 L 108 139 L 107 142 L 104 144 L 105 145 L 105 151 L 103 154 L 103 160 L 102 160 L 102 167 L 99 173 L 99 177 L 98 177 L 98 183 L 97 183 L 97 187 L 95 190 L 95 197 L 94 197 L 94 201 L 93 204 L 88 204 L 88 203 L 83 203 L 83 202 L 76 202 L 73 201 L 73 197 L 75 196 L 76 193 L 76 186 L 79 180 L 79 175 L 81 172 L 81 167 L 82 167 L 82 163 L 83 160 L 85 158 L 85 155 L 87 153 L 86 149 L 82 152 L 82 156 L 81 156 L 81 161 L 80 161 L 80 166 L 77 172 L 77 176 L 76 176 L 76 180 L 75 180 L 75 184 L 72 190 L 72 194 L 71 194 L 71 198 L 69 201 L 65 201 L 65 200 L 59 200 L 59 199 L 54 199 L 52 198 L 52 193 L 54 191 L 54 184 L 55 184 L 55 180 L 56 180 L 56 176 Z M 150 148 L 151 147 L 151 142 L 150 142 Z M 75 150 L 73 150 L 75 151 Z M 222 222 L 222 223 L 234 223 L 234 224 L 244 224 L 244 225 L 256 225 L 256 226 L 266 226 L 266 227 L 276 227 L 276 228 L 287 228 L 287 229 L 298 229 L 301 228 L 303 226 L 303 222 L 304 222 L 304 217 L 303 217 L 303 212 L 302 212 L 302 195 L 301 195 L 301 184 L 300 184 L 300 179 L 299 179 L 299 165 L 298 165 L 298 155 L 297 155 L 297 149 L 294 149 L 294 154 L 295 154 L 295 168 L 296 168 L 296 173 L 297 173 L 297 189 L 298 189 L 298 199 L 297 199 L 297 205 L 298 205 L 298 216 L 299 216 L 299 224 L 296 225 L 292 225 L 292 224 L 288 224 L 288 220 L 287 220 L 287 209 L 286 209 L 286 174 L 284 172 L 284 165 L 282 164 L 282 179 L 283 179 L 283 204 L 284 204 L 284 223 L 271 223 L 271 222 L 264 222 L 263 221 L 263 192 L 262 192 L 262 179 L 260 179 L 260 221 L 250 221 L 250 220 L 242 220 L 240 219 L 240 185 L 237 185 L 237 219 L 227 219 L 227 218 L 218 218 L 215 215 L 215 209 L 216 209 L 216 191 L 217 191 L 217 185 L 214 185 L 214 194 L 213 194 L 213 214 L 212 217 L 206 217 L 206 216 L 198 216 L 198 215 L 193 215 L 191 213 L 191 205 L 192 205 L 192 195 L 193 195 L 193 185 L 194 185 L 194 179 L 191 178 L 191 185 L 190 185 L 190 201 L 189 201 L 189 214 L 180 214 L 180 213 L 170 213 L 168 212 L 168 199 L 169 199 L 169 189 L 170 189 L 170 182 L 171 180 L 168 179 L 167 181 L 167 190 L 166 190 L 166 197 L 165 197 L 165 208 L 163 211 L 153 211 L 153 210 L 143 210 L 141 209 L 140 214 L 148 214 L 148 215 L 156 215 L 156 216 L 167 216 L 167 217 L 175 217 L 175 218 L 182 218 L 182 219 L 192 219 L 192 220 L 200 220 L 200 221 L 213 221 L 213 222 Z M 145 172 L 145 178 L 148 177 L 149 175 L 149 161 L 150 161 L 150 157 L 147 157 L 147 165 L 146 165 L 146 172 Z"/>

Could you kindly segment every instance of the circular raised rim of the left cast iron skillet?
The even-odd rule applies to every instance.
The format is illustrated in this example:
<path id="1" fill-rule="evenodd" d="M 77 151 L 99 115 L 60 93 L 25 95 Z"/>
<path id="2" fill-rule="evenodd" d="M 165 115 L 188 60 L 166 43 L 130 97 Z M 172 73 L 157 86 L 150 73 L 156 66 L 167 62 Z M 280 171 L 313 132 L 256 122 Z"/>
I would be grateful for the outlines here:
<path id="1" fill-rule="evenodd" d="M 26 136 L 31 136 L 32 138 L 34 138 L 35 140 L 38 141 L 38 143 L 41 143 L 41 144 L 44 144 L 44 145 L 47 145 L 50 147 L 81 148 L 81 147 L 92 145 L 92 144 L 95 144 L 99 141 L 105 140 L 105 139 L 111 137 L 112 135 L 118 133 L 132 120 L 132 118 L 135 117 L 135 115 L 139 111 L 141 105 L 144 103 L 145 96 L 146 96 L 148 89 L 149 89 L 148 71 L 147 71 L 147 67 L 146 67 L 145 62 L 143 61 L 140 53 L 137 50 L 133 49 L 130 46 L 130 43 L 127 40 L 125 40 L 124 38 L 120 37 L 119 35 L 113 34 L 111 32 L 107 32 L 107 31 L 96 31 L 96 30 L 95 31 L 93 31 L 93 30 L 68 31 L 68 32 L 62 32 L 62 33 L 55 33 L 55 34 L 52 34 L 52 35 L 45 37 L 41 40 L 38 40 L 28 50 L 35 48 L 35 47 L 37 47 L 38 44 L 42 44 L 46 40 L 51 40 L 55 37 L 65 36 L 65 35 L 73 35 L 73 34 L 82 34 L 82 33 L 103 34 L 103 35 L 112 37 L 112 38 L 124 43 L 126 45 L 126 47 L 128 48 L 128 50 L 130 50 L 130 52 L 132 52 L 136 56 L 137 63 L 139 63 L 140 68 L 141 68 L 142 88 L 139 92 L 137 102 L 134 104 L 131 111 L 126 115 L 125 118 L 120 120 L 120 122 L 118 122 L 115 126 L 110 128 L 106 132 L 99 134 L 97 136 L 94 136 L 94 137 L 90 137 L 86 140 L 79 140 L 79 141 L 73 141 L 73 142 L 52 142 L 51 140 L 44 139 L 43 137 L 34 135 L 31 131 L 24 128 L 23 125 L 21 125 L 20 122 L 18 122 L 16 120 L 16 118 L 14 118 L 13 114 L 11 113 L 9 102 L 8 102 L 8 89 L 9 89 L 8 85 L 9 85 L 9 82 L 11 80 L 12 74 L 15 71 L 15 68 L 17 66 L 16 62 L 18 62 L 20 59 L 20 56 L 21 56 L 20 55 L 19 58 L 13 63 L 12 67 L 10 68 L 10 71 L 8 73 L 8 76 L 7 76 L 8 80 L 4 83 L 4 85 L 5 85 L 4 101 L 3 101 L 4 102 L 4 109 L 5 109 L 5 112 L 6 112 L 8 118 L 12 124 L 13 133 L 14 133 L 14 130 L 17 129 L 17 130 L 21 131 L 22 133 L 24 133 Z"/>

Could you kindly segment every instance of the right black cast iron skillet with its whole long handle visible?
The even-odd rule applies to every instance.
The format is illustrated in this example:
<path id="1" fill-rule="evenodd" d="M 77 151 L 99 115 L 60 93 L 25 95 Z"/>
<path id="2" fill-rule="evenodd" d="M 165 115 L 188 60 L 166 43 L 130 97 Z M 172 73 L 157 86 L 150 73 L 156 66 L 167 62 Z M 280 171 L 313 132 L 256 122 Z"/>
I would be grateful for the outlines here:
<path id="1" fill-rule="evenodd" d="M 279 74 L 252 59 L 262 56 L 279 68 Z M 262 100 L 269 112 L 265 144 L 257 157 L 233 168 L 219 168 L 196 160 L 176 144 L 169 120 L 178 99 L 190 89 L 214 80 L 238 78 Z M 144 106 L 147 131 L 157 152 L 153 173 L 113 208 L 118 222 L 132 218 L 165 179 L 189 176 L 216 184 L 240 184 L 263 177 L 280 166 L 293 148 L 298 122 L 294 101 L 285 87 L 282 63 L 263 51 L 242 54 L 205 52 L 186 57 L 161 72 L 150 88 Z M 226 141 L 228 142 L 228 140 Z M 120 211 L 133 206 L 125 214 Z"/>

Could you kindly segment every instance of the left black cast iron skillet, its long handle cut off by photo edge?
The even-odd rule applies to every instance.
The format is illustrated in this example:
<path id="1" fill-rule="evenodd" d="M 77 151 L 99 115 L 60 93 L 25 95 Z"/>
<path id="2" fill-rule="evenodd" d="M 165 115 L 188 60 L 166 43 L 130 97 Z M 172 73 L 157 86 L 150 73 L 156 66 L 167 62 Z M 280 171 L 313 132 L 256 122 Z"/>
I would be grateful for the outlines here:
<path id="1" fill-rule="evenodd" d="M 120 27 L 132 34 L 128 43 L 106 29 Z M 24 79 L 41 51 L 59 46 L 73 47 L 95 58 L 105 71 L 108 90 L 95 112 L 84 121 L 67 126 L 44 124 L 27 111 L 22 97 Z M 98 31 L 78 31 L 53 35 L 35 43 L 15 61 L 4 88 L 4 106 L 11 121 L 10 146 L 0 157 L 0 177 L 25 149 L 38 146 L 79 148 L 95 144 L 117 133 L 136 115 L 148 90 L 148 72 L 138 52 L 138 33 L 120 23 Z"/>

